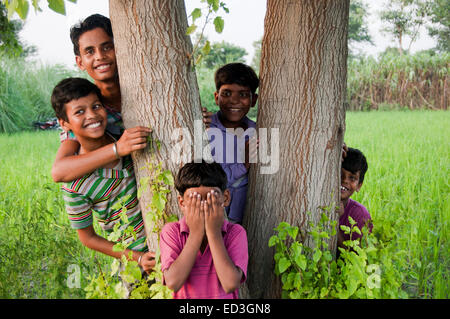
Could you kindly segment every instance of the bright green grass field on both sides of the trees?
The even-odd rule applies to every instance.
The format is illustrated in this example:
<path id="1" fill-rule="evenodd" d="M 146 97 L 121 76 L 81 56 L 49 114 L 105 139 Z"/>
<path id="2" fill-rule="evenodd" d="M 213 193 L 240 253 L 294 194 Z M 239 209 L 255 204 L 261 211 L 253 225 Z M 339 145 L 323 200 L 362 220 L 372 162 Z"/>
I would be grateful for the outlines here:
<path id="1" fill-rule="evenodd" d="M 450 113 L 347 113 L 345 141 L 369 170 L 353 198 L 400 256 L 410 298 L 448 298 Z M 69 227 L 50 168 L 56 132 L 0 135 L 0 298 L 83 298 L 87 276 L 107 257 L 84 248 Z M 69 288 L 68 267 L 81 269 Z M 383 276 L 383 274 L 382 274 Z"/>

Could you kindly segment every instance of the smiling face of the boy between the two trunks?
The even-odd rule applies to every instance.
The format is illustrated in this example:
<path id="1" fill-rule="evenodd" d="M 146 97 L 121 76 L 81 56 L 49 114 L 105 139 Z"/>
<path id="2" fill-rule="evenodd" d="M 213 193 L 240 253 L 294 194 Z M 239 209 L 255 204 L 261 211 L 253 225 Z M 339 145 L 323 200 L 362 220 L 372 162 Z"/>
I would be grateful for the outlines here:
<path id="1" fill-rule="evenodd" d="M 214 99 L 222 114 L 221 122 L 227 128 L 243 127 L 242 119 L 256 103 L 258 95 L 252 94 L 250 88 L 239 84 L 223 84 Z"/>

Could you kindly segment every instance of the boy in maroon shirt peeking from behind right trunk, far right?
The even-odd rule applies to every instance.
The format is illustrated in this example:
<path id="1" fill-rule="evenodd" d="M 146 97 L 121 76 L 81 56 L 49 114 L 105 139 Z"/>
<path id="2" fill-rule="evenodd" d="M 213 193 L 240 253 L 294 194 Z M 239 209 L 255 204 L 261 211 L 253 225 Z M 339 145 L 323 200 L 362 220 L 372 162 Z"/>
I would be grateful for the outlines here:
<path id="1" fill-rule="evenodd" d="M 361 189 L 367 168 L 367 160 L 364 154 L 358 149 L 349 147 L 341 168 L 341 207 L 339 210 L 338 247 L 345 248 L 343 245 L 345 240 L 355 240 L 362 237 L 362 235 L 353 232 L 352 238 L 350 238 L 349 234 L 345 234 L 341 230 L 341 225 L 351 227 L 348 220 L 349 217 L 356 221 L 356 226 L 360 230 L 364 226 L 368 226 L 369 231 L 372 231 L 369 212 L 363 205 L 350 198 L 355 191 L 359 192 Z"/>

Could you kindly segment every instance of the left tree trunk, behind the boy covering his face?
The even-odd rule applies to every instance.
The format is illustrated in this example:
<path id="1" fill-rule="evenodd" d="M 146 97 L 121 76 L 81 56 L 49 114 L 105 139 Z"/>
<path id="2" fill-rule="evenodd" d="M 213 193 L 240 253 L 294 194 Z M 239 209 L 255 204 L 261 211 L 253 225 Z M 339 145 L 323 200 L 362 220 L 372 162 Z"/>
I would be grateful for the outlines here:
<path id="1" fill-rule="evenodd" d="M 187 154 L 185 161 L 180 162 L 172 154 L 177 145 L 173 138 L 176 129 L 184 129 L 178 137 L 190 142 L 195 133 L 194 120 L 201 121 L 197 78 L 189 60 L 192 44 L 185 35 L 186 10 L 183 0 L 110 0 L 110 16 L 124 125 L 151 127 L 153 139 L 161 143 L 155 156 L 148 149 L 133 154 L 140 185 L 151 173 L 144 168 L 148 163 L 161 161 L 164 169 L 176 173 L 183 162 L 191 160 Z M 204 131 L 201 124 L 200 131 Z M 192 143 L 187 147 L 192 154 Z M 147 188 L 140 198 L 144 216 L 151 196 Z M 174 188 L 168 203 L 168 212 L 179 214 Z M 148 219 L 144 221 L 149 248 L 155 250 L 157 235 L 151 232 Z"/>

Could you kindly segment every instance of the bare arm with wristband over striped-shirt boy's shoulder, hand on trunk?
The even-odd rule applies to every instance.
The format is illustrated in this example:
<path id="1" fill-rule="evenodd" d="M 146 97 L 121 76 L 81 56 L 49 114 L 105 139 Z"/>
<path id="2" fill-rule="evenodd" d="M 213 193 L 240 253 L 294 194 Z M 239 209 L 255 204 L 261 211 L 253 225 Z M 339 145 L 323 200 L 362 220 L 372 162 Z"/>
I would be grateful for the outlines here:
<path id="1" fill-rule="evenodd" d="M 119 156 L 126 156 L 133 151 L 144 149 L 147 146 L 147 137 L 150 132 L 149 128 L 142 126 L 125 130 L 122 137 L 117 141 Z M 117 160 L 113 145 L 114 143 L 111 143 L 93 152 L 75 155 L 80 148 L 78 141 L 64 141 L 61 143 L 53 163 L 53 180 L 57 183 L 71 182 Z"/>

